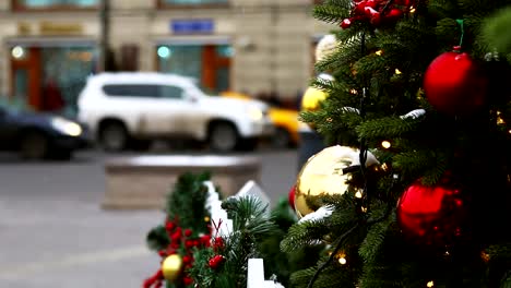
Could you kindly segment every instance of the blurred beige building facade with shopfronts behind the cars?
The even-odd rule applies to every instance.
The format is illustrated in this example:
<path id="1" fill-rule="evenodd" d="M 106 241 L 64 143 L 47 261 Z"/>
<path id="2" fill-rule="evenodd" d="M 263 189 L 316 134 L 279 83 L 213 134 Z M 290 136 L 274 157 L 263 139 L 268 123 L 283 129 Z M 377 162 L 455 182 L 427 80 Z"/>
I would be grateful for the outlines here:
<path id="1" fill-rule="evenodd" d="M 335 27 L 312 17 L 313 2 L 109 0 L 109 69 L 179 73 L 213 92 L 293 101 L 312 76 L 317 40 Z M 46 109 L 49 89 L 64 103 L 51 109 L 73 113 L 87 75 L 103 69 L 100 8 L 102 0 L 0 1 L 0 95 Z"/>

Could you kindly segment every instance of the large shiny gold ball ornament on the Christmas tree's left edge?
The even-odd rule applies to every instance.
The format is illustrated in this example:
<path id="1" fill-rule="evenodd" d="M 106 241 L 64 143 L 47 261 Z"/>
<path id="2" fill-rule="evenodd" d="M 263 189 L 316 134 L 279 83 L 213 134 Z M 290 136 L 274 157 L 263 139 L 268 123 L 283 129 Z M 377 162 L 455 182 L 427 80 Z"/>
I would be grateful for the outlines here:
<path id="1" fill-rule="evenodd" d="M 367 153 L 366 167 L 378 165 L 370 152 Z M 359 149 L 347 146 L 331 146 L 310 157 L 298 173 L 295 191 L 295 211 L 299 217 L 319 207 L 309 207 L 308 196 L 343 195 L 348 191 L 352 175 L 343 169 L 360 165 Z M 355 191 L 361 193 L 361 191 Z"/>

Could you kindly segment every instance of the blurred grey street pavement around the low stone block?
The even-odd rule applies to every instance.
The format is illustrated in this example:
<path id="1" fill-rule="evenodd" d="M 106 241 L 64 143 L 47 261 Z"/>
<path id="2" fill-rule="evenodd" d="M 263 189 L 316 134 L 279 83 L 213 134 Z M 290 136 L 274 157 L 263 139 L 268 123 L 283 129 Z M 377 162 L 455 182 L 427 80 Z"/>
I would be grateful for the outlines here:
<path id="1" fill-rule="evenodd" d="M 168 154 L 168 152 L 166 152 Z M 0 287 L 141 287 L 159 257 L 145 235 L 159 211 L 105 211 L 104 164 L 134 153 L 87 151 L 71 161 L 27 163 L 0 154 Z M 272 203 L 287 197 L 294 149 L 261 149 L 260 185 Z"/>

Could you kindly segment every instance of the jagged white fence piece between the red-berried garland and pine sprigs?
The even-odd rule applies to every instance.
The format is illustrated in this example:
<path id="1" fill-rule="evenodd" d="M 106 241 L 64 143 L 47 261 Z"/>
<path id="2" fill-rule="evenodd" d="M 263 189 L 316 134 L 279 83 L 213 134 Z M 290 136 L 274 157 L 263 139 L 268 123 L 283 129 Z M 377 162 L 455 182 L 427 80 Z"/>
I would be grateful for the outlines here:
<path id="1" fill-rule="evenodd" d="M 211 214 L 211 226 L 214 236 L 227 237 L 233 231 L 233 220 L 227 218 L 227 212 L 222 208 L 222 201 L 212 181 L 204 181 L 207 187 L 206 208 Z"/>

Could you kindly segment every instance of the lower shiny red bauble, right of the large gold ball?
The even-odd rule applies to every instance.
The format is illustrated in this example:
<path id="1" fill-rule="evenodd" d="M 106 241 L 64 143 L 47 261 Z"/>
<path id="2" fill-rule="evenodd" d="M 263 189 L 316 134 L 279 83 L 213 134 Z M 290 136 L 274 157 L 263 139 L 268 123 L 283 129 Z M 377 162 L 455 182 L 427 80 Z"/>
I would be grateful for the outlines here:
<path id="1" fill-rule="evenodd" d="M 467 201 L 447 184 L 416 181 L 397 202 L 397 223 L 411 242 L 429 247 L 454 244 L 466 232 Z"/>

